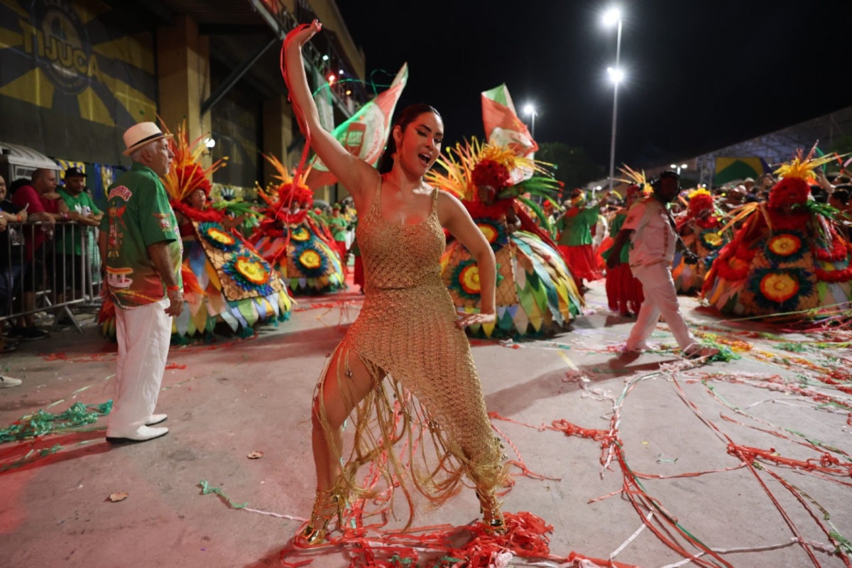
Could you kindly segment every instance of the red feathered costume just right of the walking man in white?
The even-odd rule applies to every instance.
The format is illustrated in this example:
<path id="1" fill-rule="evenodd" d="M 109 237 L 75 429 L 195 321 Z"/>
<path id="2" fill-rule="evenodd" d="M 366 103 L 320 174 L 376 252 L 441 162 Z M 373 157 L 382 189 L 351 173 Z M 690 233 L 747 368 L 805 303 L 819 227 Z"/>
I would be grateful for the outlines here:
<path id="1" fill-rule="evenodd" d="M 689 264 L 682 250 L 675 252 L 671 277 L 678 294 L 701 290 L 704 277 L 727 242 L 723 237 L 721 215 L 717 214 L 713 196 L 706 189 L 689 192 L 686 215 L 677 222 L 677 232 L 688 250 L 699 256 L 697 264 Z M 722 234 L 720 234 L 722 233 Z"/>

